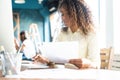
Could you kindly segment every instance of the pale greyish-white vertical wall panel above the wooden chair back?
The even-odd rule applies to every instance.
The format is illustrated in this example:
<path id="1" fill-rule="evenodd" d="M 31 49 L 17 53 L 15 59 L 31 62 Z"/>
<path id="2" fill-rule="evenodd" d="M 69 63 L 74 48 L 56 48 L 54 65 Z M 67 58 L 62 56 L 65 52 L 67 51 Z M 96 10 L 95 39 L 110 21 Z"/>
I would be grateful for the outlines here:
<path id="1" fill-rule="evenodd" d="M 114 46 L 113 1 L 106 0 L 106 46 Z"/>

